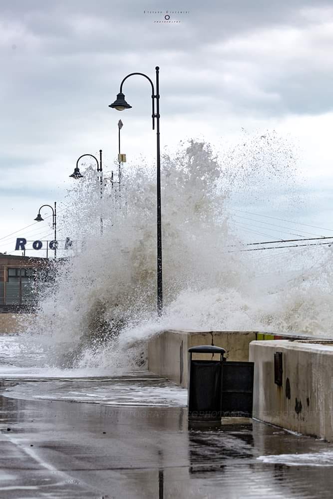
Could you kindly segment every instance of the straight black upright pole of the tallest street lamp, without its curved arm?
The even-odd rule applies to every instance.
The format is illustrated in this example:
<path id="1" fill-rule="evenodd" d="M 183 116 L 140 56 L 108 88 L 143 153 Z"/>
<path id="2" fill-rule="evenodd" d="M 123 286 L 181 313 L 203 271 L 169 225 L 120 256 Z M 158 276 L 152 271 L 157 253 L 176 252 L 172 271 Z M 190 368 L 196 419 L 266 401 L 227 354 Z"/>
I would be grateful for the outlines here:
<path id="1" fill-rule="evenodd" d="M 156 183 L 157 183 L 157 311 L 162 315 L 163 278 L 162 278 L 162 214 L 161 214 L 161 155 L 160 155 L 160 87 L 159 67 L 156 66 Z"/>

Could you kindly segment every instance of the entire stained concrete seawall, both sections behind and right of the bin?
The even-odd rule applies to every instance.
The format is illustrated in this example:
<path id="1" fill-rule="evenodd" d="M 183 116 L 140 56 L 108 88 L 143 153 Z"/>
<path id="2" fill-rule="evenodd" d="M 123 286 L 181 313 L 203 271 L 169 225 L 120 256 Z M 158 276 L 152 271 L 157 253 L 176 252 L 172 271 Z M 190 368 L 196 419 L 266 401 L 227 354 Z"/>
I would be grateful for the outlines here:
<path id="1" fill-rule="evenodd" d="M 225 348 L 230 361 L 255 363 L 254 418 L 333 441 L 333 339 L 297 333 L 164 331 L 149 341 L 148 368 L 187 387 L 188 348 L 212 344 Z M 282 360 L 277 365 L 280 380 L 276 352 Z"/>

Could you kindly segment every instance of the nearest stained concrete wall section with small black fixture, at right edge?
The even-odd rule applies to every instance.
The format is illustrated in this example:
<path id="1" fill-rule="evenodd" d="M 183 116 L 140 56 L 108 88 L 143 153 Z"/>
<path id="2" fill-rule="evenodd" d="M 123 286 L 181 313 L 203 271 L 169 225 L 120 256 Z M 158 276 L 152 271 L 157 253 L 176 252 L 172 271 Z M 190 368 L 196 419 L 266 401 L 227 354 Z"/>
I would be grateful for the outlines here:
<path id="1" fill-rule="evenodd" d="M 314 343 L 317 341 L 317 343 Z M 282 353 L 282 385 L 275 383 L 274 354 Z M 333 341 L 253 341 L 253 417 L 288 430 L 333 441 Z"/>

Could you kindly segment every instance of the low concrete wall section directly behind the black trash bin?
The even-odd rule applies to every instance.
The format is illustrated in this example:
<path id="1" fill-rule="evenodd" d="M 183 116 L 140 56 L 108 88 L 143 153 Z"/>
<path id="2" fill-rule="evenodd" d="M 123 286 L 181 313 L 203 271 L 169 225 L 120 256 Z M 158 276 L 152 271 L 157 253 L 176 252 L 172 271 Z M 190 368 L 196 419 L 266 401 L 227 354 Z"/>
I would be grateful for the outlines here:
<path id="1" fill-rule="evenodd" d="M 249 360 L 249 344 L 256 332 L 242 331 L 164 331 L 148 344 L 148 369 L 187 387 L 187 350 L 197 345 L 215 345 L 226 349 L 233 361 Z"/>

